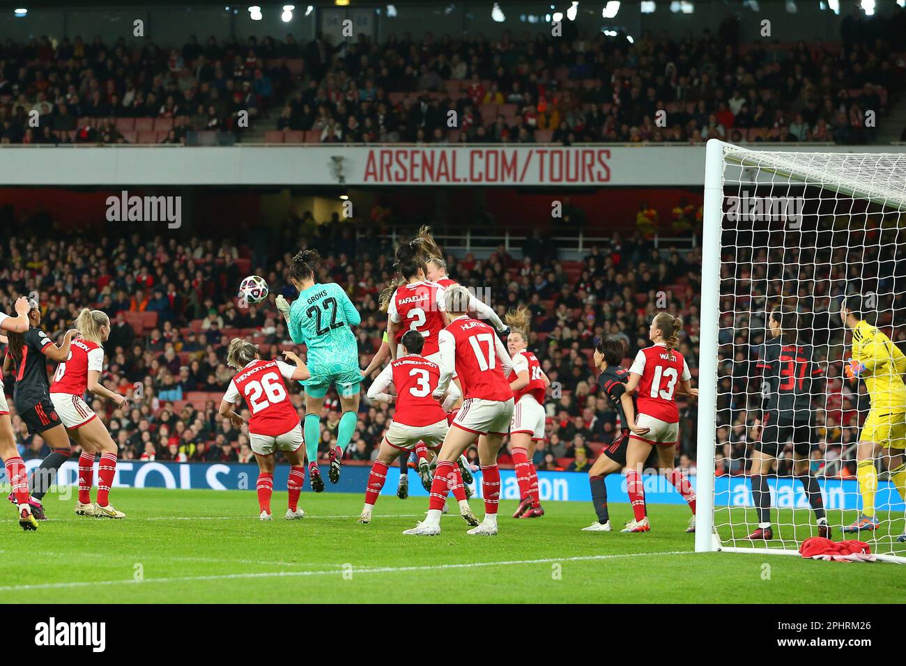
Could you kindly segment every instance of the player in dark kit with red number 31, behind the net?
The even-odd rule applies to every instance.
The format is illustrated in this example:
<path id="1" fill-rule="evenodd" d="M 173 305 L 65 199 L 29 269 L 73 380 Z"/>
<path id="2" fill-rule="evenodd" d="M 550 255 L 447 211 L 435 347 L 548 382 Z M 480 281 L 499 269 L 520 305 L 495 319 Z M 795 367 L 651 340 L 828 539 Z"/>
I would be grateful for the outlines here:
<path id="1" fill-rule="evenodd" d="M 831 538 L 824 500 L 818 481 L 809 471 L 809 454 L 814 444 L 812 400 L 824 394 L 824 371 L 814 362 L 810 344 L 800 340 L 799 314 L 780 306 L 767 319 L 771 339 L 758 353 L 756 368 L 761 371 L 762 418 L 755 421 L 757 438 L 752 451 L 749 480 L 758 513 L 758 527 L 750 539 L 773 539 L 771 493 L 767 475 L 787 441 L 793 442 L 793 474 L 802 481 L 805 496 L 814 511 L 818 536 Z"/>

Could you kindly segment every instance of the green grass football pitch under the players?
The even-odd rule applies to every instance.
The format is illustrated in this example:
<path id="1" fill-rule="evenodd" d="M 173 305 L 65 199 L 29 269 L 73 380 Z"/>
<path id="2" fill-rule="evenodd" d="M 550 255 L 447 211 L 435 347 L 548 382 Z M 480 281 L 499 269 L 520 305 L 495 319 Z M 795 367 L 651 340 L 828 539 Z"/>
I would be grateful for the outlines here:
<path id="1" fill-rule="evenodd" d="M 901 603 L 900 565 L 826 563 L 784 555 L 693 553 L 689 509 L 651 506 L 652 531 L 588 533 L 583 502 L 548 502 L 498 536 L 467 536 L 458 515 L 440 536 L 403 536 L 426 497 L 382 496 L 358 525 L 361 494 L 304 492 L 302 520 L 257 518 L 254 491 L 116 488 L 125 520 L 73 513 L 45 497 L 49 520 L 24 533 L 0 519 L 2 603 Z M 484 507 L 471 504 L 477 516 Z M 839 537 L 836 537 L 839 538 Z"/>

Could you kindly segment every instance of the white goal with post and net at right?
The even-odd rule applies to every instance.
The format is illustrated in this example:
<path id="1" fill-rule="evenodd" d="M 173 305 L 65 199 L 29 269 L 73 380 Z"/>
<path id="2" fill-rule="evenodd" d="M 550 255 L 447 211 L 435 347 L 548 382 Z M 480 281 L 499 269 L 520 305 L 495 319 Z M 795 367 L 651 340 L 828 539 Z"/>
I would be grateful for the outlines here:
<path id="1" fill-rule="evenodd" d="M 906 154 L 709 141 L 703 256 L 696 550 L 797 555 L 824 513 L 906 564 Z"/>

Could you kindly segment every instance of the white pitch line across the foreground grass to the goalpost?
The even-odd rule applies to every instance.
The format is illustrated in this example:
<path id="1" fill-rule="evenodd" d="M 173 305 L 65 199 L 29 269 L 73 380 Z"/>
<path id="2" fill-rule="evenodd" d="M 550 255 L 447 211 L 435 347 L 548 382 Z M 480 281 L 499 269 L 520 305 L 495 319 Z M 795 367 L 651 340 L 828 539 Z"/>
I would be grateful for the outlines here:
<path id="1" fill-rule="evenodd" d="M 352 567 L 351 573 L 354 574 L 395 574 L 412 571 L 438 571 L 442 569 L 466 569 L 473 566 L 502 566 L 502 565 L 544 565 L 553 562 L 589 562 L 598 560 L 615 560 L 626 557 L 657 557 L 659 555 L 693 555 L 692 551 L 674 550 L 663 553 L 622 553 L 619 555 L 577 555 L 573 557 L 545 557 L 536 560 L 506 560 L 503 562 L 470 562 L 464 564 L 448 565 L 420 565 L 420 566 L 380 566 L 371 568 L 357 569 Z M 333 565 L 336 566 L 336 565 Z M 341 565 L 344 566 L 344 565 Z M 4 585 L 0 587 L 0 592 L 18 592 L 24 590 L 56 590 L 71 587 L 93 587 L 95 585 L 119 585 L 119 584 L 149 584 L 149 583 L 182 583 L 187 581 L 220 581 L 243 578 L 294 578 L 298 576 L 313 575 L 335 575 L 345 574 L 349 569 L 331 569 L 331 570 L 314 570 L 314 571 L 275 571 L 264 573 L 246 573 L 246 574 L 214 574 L 214 575 L 190 575 L 174 576 L 166 578 L 145 578 L 137 581 L 133 578 L 125 578 L 114 581 L 77 581 L 70 583 L 42 583 L 29 585 Z"/>

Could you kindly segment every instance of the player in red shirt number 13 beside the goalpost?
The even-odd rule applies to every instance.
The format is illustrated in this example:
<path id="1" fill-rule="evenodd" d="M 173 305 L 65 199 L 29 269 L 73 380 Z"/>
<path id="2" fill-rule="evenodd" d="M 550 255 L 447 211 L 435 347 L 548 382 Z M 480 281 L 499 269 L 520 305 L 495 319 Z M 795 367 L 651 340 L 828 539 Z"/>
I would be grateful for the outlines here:
<path id="1" fill-rule="evenodd" d="M 679 408 L 676 394 L 686 393 L 692 398 L 699 391 L 691 388 L 689 366 L 682 354 L 676 351 L 682 320 L 668 313 L 659 313 L 651 321 L 648 335 L 651 347 L 639 351 L 629 369 L 630 378 L 622 401 L 631 401 L 636 392 L 638 417 L 630 418 L 626 410 L 629 429 L 632 434 L 626 452 L 626 490 L 632 504 L 634 519 L 623 532 L 648 532 L 651 526 L 645 516 L 645 491 L 641 480 L 641 468 L 645 458 L 656 447 L 660 459 L 660 471 L 689 502 L 692 520 L 689 530 L 695 530 L 695 491 L 682 470 L 674 468 L 677 443 L 679 441 Z"/>

